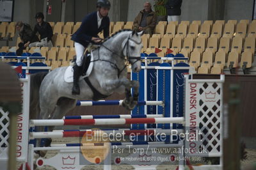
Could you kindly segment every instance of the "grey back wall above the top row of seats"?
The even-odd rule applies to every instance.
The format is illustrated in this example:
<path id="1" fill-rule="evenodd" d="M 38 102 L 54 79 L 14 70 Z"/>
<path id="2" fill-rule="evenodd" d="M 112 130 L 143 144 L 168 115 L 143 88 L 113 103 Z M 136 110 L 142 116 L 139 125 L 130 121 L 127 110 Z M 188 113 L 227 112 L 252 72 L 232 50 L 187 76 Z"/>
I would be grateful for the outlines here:
<path id="1" fill-rule="evenodd" d="M 133 21 L 143 9 L 147 0 L 109 0 L 112 4 L 109 11 L 111 21 Z M 154 4 L 154 0 L 148 0 Z M 65 21 L 81 21 L 89 12 L 95 10 L 97 0 L 67 0 Z M 48 21 L 61 20 L 61 1 L 50 0 L 52 15 L 47 15 Z M 23 20 L 33 25 L 35 13 L 43 11 L 44 0 L 15 1 L 13 20 Z M 243 8 L 241 8 L 243 6 Z M 115 9 L 115 10 L 113 10 Z M 253 0 L 183 0 L 181 20 L 218 20 L 218 19 L 252 19 Z M 44 11 L 45 12 L 45 11 Z M 116 14 L 119 14 L 116 15 Z"/>

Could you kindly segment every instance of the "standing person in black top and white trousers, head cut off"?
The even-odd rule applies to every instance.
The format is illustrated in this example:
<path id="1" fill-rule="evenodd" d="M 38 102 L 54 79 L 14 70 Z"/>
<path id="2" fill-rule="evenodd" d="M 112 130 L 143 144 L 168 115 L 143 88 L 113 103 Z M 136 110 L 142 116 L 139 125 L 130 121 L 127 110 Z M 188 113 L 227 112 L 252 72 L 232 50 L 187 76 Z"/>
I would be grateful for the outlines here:
<path id="1" fill-rule="evenodd" d="M 165 4 L 167 10 L 167 20 L 170 21 L 179 21 L 181 15 L 181 4 L 182 0 L 168 0 Z"/>

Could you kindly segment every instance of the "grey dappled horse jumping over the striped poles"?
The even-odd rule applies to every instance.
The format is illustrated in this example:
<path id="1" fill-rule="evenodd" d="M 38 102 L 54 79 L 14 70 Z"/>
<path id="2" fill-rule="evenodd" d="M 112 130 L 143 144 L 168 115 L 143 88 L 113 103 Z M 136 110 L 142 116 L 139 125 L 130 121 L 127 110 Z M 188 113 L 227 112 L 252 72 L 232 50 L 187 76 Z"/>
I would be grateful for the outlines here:
<path id="1" fill-rule="evenodd" d="M 138 81 L 127 79 L 126 61 L 131 63 L 132 72 L 140 71 L 140 51 L 143 47 L 141 35 L 142 32 L 119 31 L 92 51 L 94 63 L 88 79 L 93 88 L 106 97 L 114 91 L 126 91 L 123 104 L 127 109 L 133 109 L 136 105 L 139 84 Z M 31 119 L 60 119 L 76 106 L 77 100 L 95 99 L 92 88 L 83 79 L 79 81 L 80 95 L 72 95 L 73 83 L 64 81 L 66 68 L 60 67 L 49 73 L 31 75 Z M 134 98 L 131 97 L 131 88 L 134 88 Z M 38 129 L 41 132 L 42 130 L 43 128 Z"/>

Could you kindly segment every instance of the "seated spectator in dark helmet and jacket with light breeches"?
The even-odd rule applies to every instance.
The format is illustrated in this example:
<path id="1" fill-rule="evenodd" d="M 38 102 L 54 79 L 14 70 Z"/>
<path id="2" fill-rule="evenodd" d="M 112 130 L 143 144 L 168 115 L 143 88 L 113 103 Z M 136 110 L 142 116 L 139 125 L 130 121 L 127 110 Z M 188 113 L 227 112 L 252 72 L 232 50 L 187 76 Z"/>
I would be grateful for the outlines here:
<path id="1" fill-rule="evenodd" d="M 48 22 L 44 21 L 44 14 L 42 12 L 36 13 L 36 22 L 37 24 L 35 25 L 33 35 L 31 40 L 26 43 L 26 45 L 29 45 L 30 47 L 52 47 L 52 27 Z M 32 39 L 34 36 L 36 36 L 36 33 L 40 34 L 40 42 L 32 42 Z"/>

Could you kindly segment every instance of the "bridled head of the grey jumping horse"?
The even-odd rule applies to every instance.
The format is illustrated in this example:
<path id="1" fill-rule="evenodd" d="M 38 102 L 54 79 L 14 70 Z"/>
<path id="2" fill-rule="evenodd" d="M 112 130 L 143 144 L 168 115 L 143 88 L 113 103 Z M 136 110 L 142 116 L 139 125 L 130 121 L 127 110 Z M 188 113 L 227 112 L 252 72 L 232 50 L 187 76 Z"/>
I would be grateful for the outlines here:
<path id="1" fill-rule="evenodd" d="M 127 56 L 127 60 L 132 65 L 132 72 L 140 72 L 141 69 L 140 52 L 143 47 L 141 42 L 142 33 L 143 31 L 140 33 L 133 31 L 122 43 L 124 56 Z"/>

